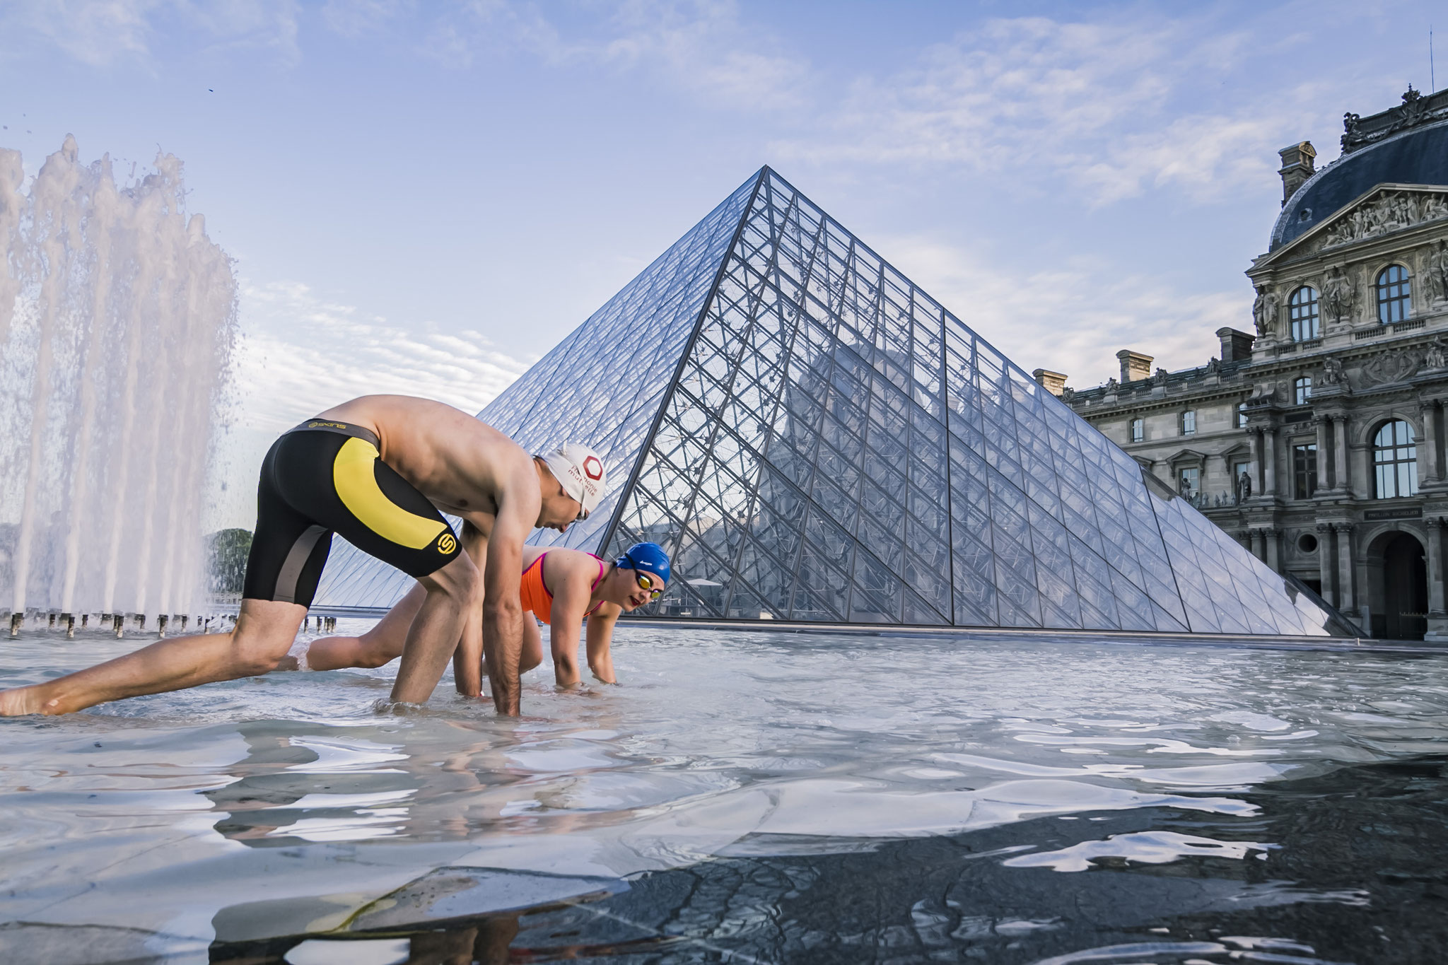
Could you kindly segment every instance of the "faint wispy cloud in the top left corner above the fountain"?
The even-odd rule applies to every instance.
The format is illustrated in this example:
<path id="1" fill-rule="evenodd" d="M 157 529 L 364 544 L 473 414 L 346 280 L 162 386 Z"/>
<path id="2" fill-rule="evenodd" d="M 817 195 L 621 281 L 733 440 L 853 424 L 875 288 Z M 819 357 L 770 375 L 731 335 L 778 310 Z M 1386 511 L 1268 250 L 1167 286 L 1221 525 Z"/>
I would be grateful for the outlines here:
<path id="1" fill-rule="evenodd" d="M 292 0 L 7 0 L 0 38 L 10 51 L 38 41 L 87 67 L 151 67 L 162 20 L 195 30 L 203 49 L 271 49 L 287 64 L 300 58 Z"/>

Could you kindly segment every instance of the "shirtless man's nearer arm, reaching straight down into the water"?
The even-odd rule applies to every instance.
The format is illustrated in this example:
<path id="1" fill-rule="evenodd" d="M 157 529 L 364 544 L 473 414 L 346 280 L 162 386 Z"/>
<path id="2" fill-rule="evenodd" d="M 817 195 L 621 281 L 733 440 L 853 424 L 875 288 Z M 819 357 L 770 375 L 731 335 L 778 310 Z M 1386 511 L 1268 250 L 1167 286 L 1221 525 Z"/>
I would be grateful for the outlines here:
<path id="1" fill-rule="evenodd" d="M 488 538 L 482 582 L 482 650 L 488 655 L 488 683 L 498 713 L 518 715 L 518 658 L 523 652 L 523 541 L 539 518 L 542 498 L 533 462 L 514 470 L 500 495 L 497 519 Z"/>

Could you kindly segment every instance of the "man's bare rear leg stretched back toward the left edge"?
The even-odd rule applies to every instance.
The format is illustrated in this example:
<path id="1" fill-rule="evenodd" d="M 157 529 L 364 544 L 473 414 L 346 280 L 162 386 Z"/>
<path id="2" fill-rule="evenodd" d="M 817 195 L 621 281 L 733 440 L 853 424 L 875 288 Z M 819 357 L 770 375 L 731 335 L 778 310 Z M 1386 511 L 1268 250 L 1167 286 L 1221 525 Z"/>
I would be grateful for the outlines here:
<path id="1" fill-rule="evenodd" d="M 0 716 L 71 713 L 122 697 L 255 677 L 277 666 L 307 608 L 243 599 L 230 634 L 174 637 L 56 680 L 0 693 Z"/>

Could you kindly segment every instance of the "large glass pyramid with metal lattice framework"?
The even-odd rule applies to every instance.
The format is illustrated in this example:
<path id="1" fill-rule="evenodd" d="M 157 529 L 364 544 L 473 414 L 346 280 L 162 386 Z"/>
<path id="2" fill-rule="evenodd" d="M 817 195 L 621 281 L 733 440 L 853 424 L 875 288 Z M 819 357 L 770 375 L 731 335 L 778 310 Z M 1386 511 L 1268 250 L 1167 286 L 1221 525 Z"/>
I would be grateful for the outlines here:
<path id="1" fill-rule="evenodd" d="M 769 168 L 478 418 L 599 450 L 531 543 L 660 543 L 646 616 L 1351 634 Z M 317 606 L 410 583 L 339 541 Z"/>

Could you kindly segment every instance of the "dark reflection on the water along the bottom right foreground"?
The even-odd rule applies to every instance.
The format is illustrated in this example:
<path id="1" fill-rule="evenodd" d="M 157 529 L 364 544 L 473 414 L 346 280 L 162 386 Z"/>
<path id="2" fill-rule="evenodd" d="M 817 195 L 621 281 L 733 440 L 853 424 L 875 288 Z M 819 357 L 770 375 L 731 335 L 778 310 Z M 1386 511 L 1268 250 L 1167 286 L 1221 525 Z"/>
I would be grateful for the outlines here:
<path id="1" fill-rule="evenodd" d="M 613 888 L 452 870 L 376 903 L 392 920 L 363 911 L 323 940 L 223 943 L 211 961 L 355 962 L 350 942 L 375 939 L 387 961 L 414 965 L 1428 962 L 1448 940 L 1444 794 L 1448 758 L 1434 757 L 1281 781 L 1250 796 L 1251 819 L 1145 809 L 843 848 L 817 839 L 812 854 L 754 836 L 741 851 L 756 854 Z M 549 883 L 575 894 L 465 913 Z"/>

